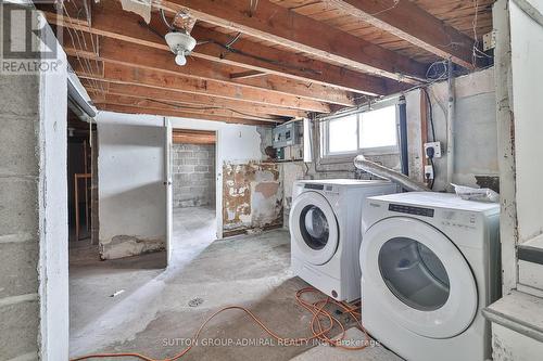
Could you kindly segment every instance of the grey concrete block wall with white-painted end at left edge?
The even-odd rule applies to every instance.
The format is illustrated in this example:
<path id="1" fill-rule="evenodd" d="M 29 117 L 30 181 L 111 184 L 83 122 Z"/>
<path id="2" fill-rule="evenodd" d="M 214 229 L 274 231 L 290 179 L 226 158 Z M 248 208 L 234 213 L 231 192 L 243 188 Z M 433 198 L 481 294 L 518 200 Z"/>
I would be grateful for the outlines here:
<path id="1" fill-rule="evenodd" d="M 33 18 L 60 66 L 0 76 L 2 361 L 68 359 L 66 57 Z"/>

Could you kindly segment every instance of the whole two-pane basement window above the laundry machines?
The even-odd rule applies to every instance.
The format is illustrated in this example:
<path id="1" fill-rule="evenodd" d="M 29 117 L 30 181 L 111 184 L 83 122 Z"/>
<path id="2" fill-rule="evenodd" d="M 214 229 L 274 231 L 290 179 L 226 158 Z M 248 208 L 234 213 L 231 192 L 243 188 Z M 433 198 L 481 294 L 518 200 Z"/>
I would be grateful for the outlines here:
<path id="1" fill-rule="evenodd" d="M 326 118 L 320 134 L 323 157 L 397 153 L 397 106 L 389 103 Z"/>

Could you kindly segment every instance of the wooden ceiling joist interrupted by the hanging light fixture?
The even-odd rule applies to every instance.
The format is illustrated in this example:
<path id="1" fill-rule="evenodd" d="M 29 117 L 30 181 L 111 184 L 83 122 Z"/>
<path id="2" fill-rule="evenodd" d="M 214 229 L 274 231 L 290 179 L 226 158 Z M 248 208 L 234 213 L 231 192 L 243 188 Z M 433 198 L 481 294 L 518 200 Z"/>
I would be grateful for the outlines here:
<path id="1" fill-rule="evenodd" d="M 168 47 L 161 37 L 162 34 L 165 34 L 165 29 L 156 15 L 151 20 L 151 26 L 160 35 L 144 25 L 138 15 L 118 8 L 116 2 L 111 0 L 101 1 L 100 5 L 93 5 L 92 27 L 77 22 L 71 23 L 53 13 L 46 13 L 46 15 L 51 24 L 168 51 Z M 353 72 L 293 52 L 272 49 L 243 38 L 239 39 L 232 47 L 239 51 L 238 53 L 227 51 L 219 46 L 230 40 L 228 35 L 199 26 L 195 26 L 191 34 L 198 40 L 209 40 L 207 43 L 199 44 L 194 49 L 192 52 L 194 57 L 275 74 L 290 79 L 332 86 L 368 95 L 384 95 L 396 91 L 394 81 L 386 81 L 379 77 Z"/>

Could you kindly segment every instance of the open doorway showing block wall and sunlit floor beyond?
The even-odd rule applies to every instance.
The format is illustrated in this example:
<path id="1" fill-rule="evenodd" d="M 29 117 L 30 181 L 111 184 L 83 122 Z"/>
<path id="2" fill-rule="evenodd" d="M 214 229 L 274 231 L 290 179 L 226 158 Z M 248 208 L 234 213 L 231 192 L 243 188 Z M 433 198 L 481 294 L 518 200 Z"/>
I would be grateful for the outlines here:
<path id="1" fill-rule="evenodd" d="M 215 131 L 173 129 L 172 131 L 173 262 L 216 240 L 216 154 Z"/>

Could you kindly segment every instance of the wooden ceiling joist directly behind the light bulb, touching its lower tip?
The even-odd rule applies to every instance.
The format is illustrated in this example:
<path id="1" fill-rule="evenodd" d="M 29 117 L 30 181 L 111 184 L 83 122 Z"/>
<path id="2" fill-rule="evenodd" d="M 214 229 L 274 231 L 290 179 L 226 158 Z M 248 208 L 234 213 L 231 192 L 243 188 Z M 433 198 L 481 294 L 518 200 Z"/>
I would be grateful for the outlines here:
<path id="1" fill-rule="evenodd" d="M 89 46 L 89 43 L 87 43 Z M 265 90 L 285 95 L 295 95 L 319 102 L 354 106 L 351 93 L 337 88 L 316 83 L 304 83 L 298 80 L 280 78 L 277 76 L 266 79 L 244 78 L 235 81 L 230 74 L 236 69 L 229 65 L 211 62 L 204 59 L 187 59 L 187 65 L 179 66 L 174 62 L 175 55 L 165 50 L 151 49 L 131 42 L 112 38 L 100 40 L 99 56 L 89 51 L 80 51 L 79 44 L 73 44 L 66 39 L 64 51 L 72 56 L 98 59 L 104 63 L 126 65 L 135 68 L 156 70 L 172 75 L 186 76 L 193 79 L 205 79 L 240 88 Z"/>

